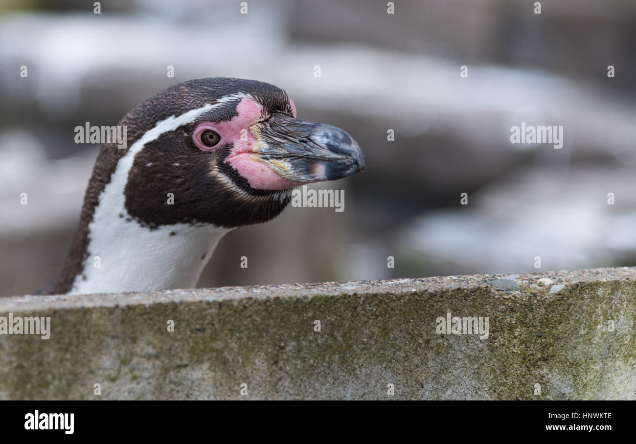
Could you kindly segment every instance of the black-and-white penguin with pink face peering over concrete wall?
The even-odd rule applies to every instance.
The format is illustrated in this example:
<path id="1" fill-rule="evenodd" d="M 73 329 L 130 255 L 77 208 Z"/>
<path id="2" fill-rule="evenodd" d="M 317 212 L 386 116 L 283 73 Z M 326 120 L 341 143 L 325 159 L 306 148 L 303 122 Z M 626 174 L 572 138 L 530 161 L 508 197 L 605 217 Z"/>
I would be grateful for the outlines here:
<path id="1" fill-rule="evenodd" d="M 268 83 L 174 85 L 120 121 L 97 156 L 71 250 L 41 294 L 194 288 L 229 230 L 275 218 L 302 184 L 364 170 L 340 128 L 296 118 Z"/>

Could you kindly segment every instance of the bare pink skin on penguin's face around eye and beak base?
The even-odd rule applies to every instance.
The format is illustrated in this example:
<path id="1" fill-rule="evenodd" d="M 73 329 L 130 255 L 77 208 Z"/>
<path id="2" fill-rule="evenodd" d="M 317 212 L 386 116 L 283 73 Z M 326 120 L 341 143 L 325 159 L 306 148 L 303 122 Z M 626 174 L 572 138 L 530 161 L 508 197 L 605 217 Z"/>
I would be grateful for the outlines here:
<path id="1" fill-rule="evenodd" d="M 296 117 L 296 105 L 291 99 L 289 103 L 293 109 L 294 117 Z M 256 190 L 285 190 L 301 184 L 301 182 L 294 182 L 280 177 L 270 170 L 265 163 L 254 160 L 257 155 L 254 154 L 253 148 L 257 141 L 249 127 L 263 119 L 263 106 L 253 99 L 245 98 L 237 105 L 237 113 L 239 115 L 234 116 L 229 121 L 200 123 L 192 135 L 197 147 L 203 151 L 214 151 L 219 146 L 232 142 L 232 152 L 225 162 L 230 163 L 233 169 L 237 170 L 247 180 L 249 186 Z M 207 129 L 214 130 L 221 136 L 221 141 L 216 146 L 205 146 L 200 141 L 199 135 Z"/>

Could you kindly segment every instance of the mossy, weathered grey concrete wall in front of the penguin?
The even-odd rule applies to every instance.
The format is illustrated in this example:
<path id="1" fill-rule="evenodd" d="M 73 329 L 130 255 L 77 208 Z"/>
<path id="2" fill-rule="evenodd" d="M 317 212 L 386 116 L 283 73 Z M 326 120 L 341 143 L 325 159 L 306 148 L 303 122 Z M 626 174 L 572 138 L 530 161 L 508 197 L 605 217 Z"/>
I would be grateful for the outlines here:
<path id="1" fill-rule="evenodd" d="M 0 398 L 636 399 L 635 295 L 605 268 L 3 298 L 52 327 L 0 335 Z M 488 338 L 438 335 L 448 312 Z"/>

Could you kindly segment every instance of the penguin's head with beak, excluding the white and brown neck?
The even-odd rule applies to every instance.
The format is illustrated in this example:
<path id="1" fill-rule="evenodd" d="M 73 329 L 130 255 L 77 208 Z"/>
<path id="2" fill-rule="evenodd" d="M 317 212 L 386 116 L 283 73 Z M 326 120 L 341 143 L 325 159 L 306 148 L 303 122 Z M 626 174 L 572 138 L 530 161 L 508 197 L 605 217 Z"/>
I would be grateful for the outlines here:
<path id="1" fill-rule="evenodd" d="M 262 223 L 286 207 L 294 187 L 365 167 L 347 132 L 296 118 L 286 92 L 259 81 L 186 81 L 137 106 L 120 125 L 128 128 L 120 157 L 132 161 L 125 207 L 151 228 Z"/>

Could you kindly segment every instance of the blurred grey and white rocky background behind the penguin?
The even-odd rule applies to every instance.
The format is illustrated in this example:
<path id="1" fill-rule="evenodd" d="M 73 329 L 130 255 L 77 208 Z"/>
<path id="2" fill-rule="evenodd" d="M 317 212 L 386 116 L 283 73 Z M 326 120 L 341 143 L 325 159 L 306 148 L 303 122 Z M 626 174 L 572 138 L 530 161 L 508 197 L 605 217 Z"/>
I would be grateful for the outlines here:
<path id="1" fill-rule="evenodd" d="M 285 88 L 368 169 L 328 185 L 342 213 L 226 235 L 200 286 L 636 265 L 636 2 L 395 3 L 0 0 L 0 295 L 64 263 L 98 148 L 74 127 L 211 76 Z M 522 121 L 563 125 L 563 148 L 511 144 Z"/>

